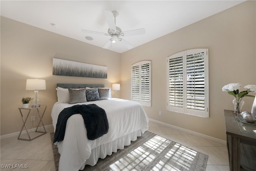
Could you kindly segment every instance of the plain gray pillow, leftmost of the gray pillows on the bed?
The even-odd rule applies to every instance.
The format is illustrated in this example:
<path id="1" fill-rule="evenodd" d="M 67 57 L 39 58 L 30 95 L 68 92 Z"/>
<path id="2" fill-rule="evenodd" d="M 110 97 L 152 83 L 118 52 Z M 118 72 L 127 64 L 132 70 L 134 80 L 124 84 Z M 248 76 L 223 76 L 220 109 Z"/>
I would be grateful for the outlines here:
<path id="1" fill-rule="evenodd" d="M 69 104 L 86 102 L 86 90 L 85 89 L 68 89 Z"/>

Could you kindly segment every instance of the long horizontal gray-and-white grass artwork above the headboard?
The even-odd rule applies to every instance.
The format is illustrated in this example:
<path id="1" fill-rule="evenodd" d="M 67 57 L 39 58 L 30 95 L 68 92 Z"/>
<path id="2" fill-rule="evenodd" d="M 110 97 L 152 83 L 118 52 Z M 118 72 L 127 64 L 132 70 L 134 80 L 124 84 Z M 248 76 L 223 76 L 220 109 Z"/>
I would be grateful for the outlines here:
<path id="1" fill-rule="evenodd" d="M 52 75 L 107 78 L 107 67 L 53 58 Z"/>

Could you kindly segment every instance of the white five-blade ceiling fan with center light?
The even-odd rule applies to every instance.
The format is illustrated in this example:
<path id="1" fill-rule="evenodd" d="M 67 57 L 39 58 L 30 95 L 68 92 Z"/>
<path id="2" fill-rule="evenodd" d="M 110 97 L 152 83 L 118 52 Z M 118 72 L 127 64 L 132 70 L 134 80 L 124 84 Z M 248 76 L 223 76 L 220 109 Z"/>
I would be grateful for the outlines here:
<path id="1" fill-rule="evenodd" d="M 121 28 L 116 26 L 116 17 L 119 15 L 119 13 L 117 11 L 112 11 L 112 12 L 104 11 L 104 14 L 105 14 L 106 20 L 108 22 L 108 26 L 109 26 L 108 33 L 94 32 L 94 31 L 90 31 L 90 30 L 82 30 L 82 32 L 89 33 L 89 34 L 100 34 L 100 35 L 105 35 L 105 36 L 111 36 L 111 38 L 102 47 L 104 49 L 109 48 L 112 43 L 116 43 L 118 41 L 121 42 L 122 44 L 124 44 L 124 46 L 126 46 L 128 49 L 132 49 L 133 46 L 129 42 L 124 40 L 124 38 L 122 38 L 122 36 L 136 36 L 136 35 L 145 34 L 144 28 L 122 32 Z M 113 18 L 113 16 L 114 16 L 114 18 Z"/>

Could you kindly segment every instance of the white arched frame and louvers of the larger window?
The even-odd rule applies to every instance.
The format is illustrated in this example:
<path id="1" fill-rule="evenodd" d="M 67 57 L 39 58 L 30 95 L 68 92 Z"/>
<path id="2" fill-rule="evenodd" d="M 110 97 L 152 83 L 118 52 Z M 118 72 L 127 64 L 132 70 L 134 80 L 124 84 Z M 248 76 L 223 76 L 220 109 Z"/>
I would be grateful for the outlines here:
<path id="1" fill-rule="evenodd" d="M 204 59 L 204 62 L 203 62 L 203 65 L 204 65 L 204 110 L 201 110 L 201 109 L 190 109 L 188 108 L 188 103 L 187 102 L 187 89 L 188 89 L 188 85 L 187 85 L 187 82 L 189 81 L 189 78 L 187 77 L 187 57 L 192 55 L 192 54 L 200 54 L 200 53 L 204 53 L 203 55 L 203 59 Z M 175 86 L 175 88 L 177 87 L 182 87 L 182 91 L 181 93 L 177 93 L 176 95 L 176 90 L 175 90 L 175 93 L 174 93 L 174 100 L 175 101 L 175 105 L 177 104 L 177 106 L 172 106 L 170 105 L 170 97 L 173 97 L 173 94 L 171 95 L 170 91 L 173 91 L 173 89 L 170 90 L 170 82 L 172 82 L 172 85 L 173 84 L 176 84 L 176 80 L 179 80 L 179 79 L 176 79 L 176 73 L 175 74 L 172 74 L 171 77 L 175 79 L 172 79 L 170 80 L 170 71 L 169 69 L 172 69 L 170 68 L 170 60 L 172 63 L 174 63 L 174 59 L 177 59 L 175 60 L 175 62 L 177 61 L 177 64 L 175 63 L 174 65 L 176 65 L 178 67 L 178 58 L 182 58 L 182 74 L 177 74 L 177 77 L 181 79 L 181 75 L 182 75 L 182 86 L 180 85 L 180 83 L 178 83 L 179 81 L 177 81 L 177 86 Z M 189 114 L 189 115 L 195 115 L 195 116 L 199 116 L 199 117 L 205 117 L 205 118 L 208 118 L 209 117 L 209 81 L 208 81 L 208 73 L 209 73 L 209 64 L 208 64 L 208 49 L 192 49 L 192 50 L 186 50 L 186 51 L 183 51 L 183 52 L 178 52 L 176 54 L 173 54 L 171 56 L 168 56 L 167 58 L 167 76 L 166 76 L 166 80 L 167 80 L 167 110 L 169 111 L 175 111 L 175 112 L 178 112 L 178 113 L 185 113 L 185 114 Z M 173 60 L 172 60 L 173 59 Z M 181 60 L 180 60 L 181 61 Z M 196 66 L 196 65 L 195 65 Z M 177 68 L 175 71 L 178 71 L 178 69 L 180 68 Z M 177 72 L 178 73 L 178 72 Z M 194 72 L 194 73 L 197 73 L 197 72 Z M 195 74 L 196 75 L 196 74 Z M 174 80 L 174 83 L 173 83 L 173 80 Z M 194 104 L 194 107 L 196 108 L 199 103 L 196 102 L 198 100 L 196 100 L 196 97 L 198 98 L 202 98 L 202 97 L 199 97 L 199 95 L 196 93 L 196 80 L 194 80 L 194 92 L 195 92 L 195 96 L 194 97 L 194 103 L 191 103 L 191 104 Z M 201 83 L 201 82 L 200 82 Z M 190 85 L 191 86 L 191 85 Z M 182 94 L 182 95 L 181 95 Z M 182 104 L 179 104 L 179 99 L 181 99 L 180 97 L 182 97 Z M 192 96 L 191 96 L 192 97 Z M 191 98 L 190 97 L 190 98 Z M 176 100 L 177 98 L 177 100 Z M 188 99 L 189 100 L 189 99 Z M 180 100 L 181 101 L 181 100 Z M 201 100 L 202 101 L 202 100 Z M 180 107 L 182 106 L 182 107 Z M 201 108 L 201 107 L 198 107 L 198 108 Z"/>

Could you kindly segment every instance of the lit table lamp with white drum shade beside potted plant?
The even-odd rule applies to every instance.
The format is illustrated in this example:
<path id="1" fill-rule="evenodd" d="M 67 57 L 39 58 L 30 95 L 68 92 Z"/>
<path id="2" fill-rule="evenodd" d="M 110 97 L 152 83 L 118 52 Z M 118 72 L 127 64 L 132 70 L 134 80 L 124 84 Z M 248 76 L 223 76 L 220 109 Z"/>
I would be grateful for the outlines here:
<path id="1" fill-rule="evenodd" d="M 35 98 L 32 101 L 32 107 L 40 107 L 40 102 L 38 99 L 38 90 L 46 89 L 45 80 L 41 79 L 27 79 L 26 90 L 34 90 Z"/>

